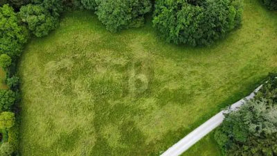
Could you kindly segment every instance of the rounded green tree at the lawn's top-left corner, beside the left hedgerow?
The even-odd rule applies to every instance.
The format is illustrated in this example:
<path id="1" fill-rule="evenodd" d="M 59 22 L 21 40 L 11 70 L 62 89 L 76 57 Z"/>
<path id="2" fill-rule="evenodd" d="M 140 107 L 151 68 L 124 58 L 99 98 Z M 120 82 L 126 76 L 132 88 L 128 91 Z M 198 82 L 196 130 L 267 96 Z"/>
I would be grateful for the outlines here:
<path id="1" fill-rule="evenodd" d="M 36 37 L 48 35 L 58 25 L 58 19 L 51 16 L 49 11 L 40 5 L 27 5 L 20 8 L 19 16 L 28 24 L 29 30 Z"/>

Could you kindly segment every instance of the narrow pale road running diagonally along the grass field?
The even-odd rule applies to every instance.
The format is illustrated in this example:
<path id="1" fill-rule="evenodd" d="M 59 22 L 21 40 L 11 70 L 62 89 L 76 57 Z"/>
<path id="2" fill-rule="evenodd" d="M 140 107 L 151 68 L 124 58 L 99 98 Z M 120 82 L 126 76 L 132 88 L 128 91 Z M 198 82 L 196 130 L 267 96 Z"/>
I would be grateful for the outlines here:
<path id="1" fill-rule="evenodd" d="M 253 93 L 251 93 L 249 96 L 245 97 L 244 99 L 241 99 L 240 101 L 232 104 L 230 107 L 231 110 L 237 110 L 238 107 L 240 107 L 244 102 L 245 99 L 249 100 L 254 98 L 255 93 L 262 87 L 259 86 L 257 89 L 254 90 Z M 181 139 L 179 142 L 177 142 L 175 145 L 171 146 L 167 151 L 165 151 L 161 156 L 178 156 L 184 153 L 187 149 L 189 149 L 192 145 L 194 145 L 197 141 L 199 141 L 202 137 L 207 135 L 209 132 L 211 132 L 213 129 L 218 127 L 222 121 L 224 120 L 224 113 L 227 113 L 228 111 L 221 111 L 215 116 L 213 116 L 211 119 L 206 121 L 204 124 L 196 128 L 194 131 L 190 132 L 187 136 L 185 136 L 183 139 Z"/>

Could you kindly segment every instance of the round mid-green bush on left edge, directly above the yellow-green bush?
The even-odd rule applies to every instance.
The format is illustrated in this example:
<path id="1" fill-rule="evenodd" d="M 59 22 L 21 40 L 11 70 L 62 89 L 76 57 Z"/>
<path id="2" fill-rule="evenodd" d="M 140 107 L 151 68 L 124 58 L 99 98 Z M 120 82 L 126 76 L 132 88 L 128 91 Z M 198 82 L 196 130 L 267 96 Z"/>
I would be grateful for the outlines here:
<path id="1" fill-rule="evenodd" d="M 8 89 L 0 89 L 0 111 L 11 111 L 14 105 L 16 95 L 13 91 Z"/>

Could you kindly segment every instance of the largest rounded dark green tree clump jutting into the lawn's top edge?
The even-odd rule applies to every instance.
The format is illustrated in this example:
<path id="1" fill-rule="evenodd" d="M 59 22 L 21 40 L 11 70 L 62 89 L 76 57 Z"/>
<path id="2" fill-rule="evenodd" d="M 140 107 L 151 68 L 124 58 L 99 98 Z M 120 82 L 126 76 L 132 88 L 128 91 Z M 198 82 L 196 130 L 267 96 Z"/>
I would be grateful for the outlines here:
<path id="1" fill-rule="evenodd" d="M 157 0 L 153 24 L 175 44 L 210 45 L 241 22 L 241 0 Z"/>

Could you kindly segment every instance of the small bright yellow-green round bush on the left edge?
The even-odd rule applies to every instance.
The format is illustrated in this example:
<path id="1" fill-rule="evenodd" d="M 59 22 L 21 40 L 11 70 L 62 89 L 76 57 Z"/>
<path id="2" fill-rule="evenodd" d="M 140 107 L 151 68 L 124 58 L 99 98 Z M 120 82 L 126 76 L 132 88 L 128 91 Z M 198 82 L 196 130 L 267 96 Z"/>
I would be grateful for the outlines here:
<path id="1" fill-rule="evenodd" d="M 2 112 L 0 114 L 0 128 L 11 128 L 15 125 L 15 114 L 12 112 Z"/>

